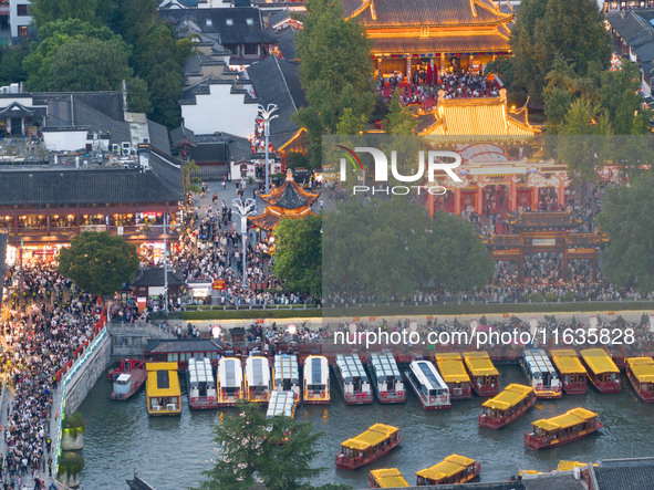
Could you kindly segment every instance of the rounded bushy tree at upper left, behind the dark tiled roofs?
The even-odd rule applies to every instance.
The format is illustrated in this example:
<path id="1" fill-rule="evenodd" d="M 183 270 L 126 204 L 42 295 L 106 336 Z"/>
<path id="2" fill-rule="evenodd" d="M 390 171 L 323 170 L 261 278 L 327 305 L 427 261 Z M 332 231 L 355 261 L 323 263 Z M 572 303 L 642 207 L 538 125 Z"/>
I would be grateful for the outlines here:
<path id="1" fill-rule="evenodd" d="M 75 39 L 53 54 L 50 65 L 51 91 L 115 91 L 132 76 L 127 54 L 112 41 Z"/>

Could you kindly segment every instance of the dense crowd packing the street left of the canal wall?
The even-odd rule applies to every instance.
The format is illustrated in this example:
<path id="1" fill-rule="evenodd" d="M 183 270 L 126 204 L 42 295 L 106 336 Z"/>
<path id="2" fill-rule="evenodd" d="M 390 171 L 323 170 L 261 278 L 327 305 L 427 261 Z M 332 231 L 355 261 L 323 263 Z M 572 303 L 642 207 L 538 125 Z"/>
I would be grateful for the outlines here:
<path id="1" fill-rule="evenodd" d="M 52 264 L 25 264 L 22 272 L 12 268 L 7 282 L 15 288 L 0 322 L 0 366 L 13 399 L 3 430 L 2 480 L 12 489 L 28 481 L 34 481 L 31 488 L 42 488 L 41 476 L 52 475 L 50 419 L 56 374 L 92 338 L 101 310 L 97 298 L 75 291 Z"/>

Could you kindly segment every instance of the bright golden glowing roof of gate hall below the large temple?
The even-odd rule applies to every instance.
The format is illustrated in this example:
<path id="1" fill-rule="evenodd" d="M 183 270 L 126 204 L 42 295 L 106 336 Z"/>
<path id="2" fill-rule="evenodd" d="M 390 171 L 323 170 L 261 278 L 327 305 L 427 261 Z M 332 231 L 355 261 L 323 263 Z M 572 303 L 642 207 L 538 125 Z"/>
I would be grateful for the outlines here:
<path id="1" fill-rule="evenodd" d="M 434 115 L 435 124 L 422 134 L 453 142 L 470 138 L 523 140 L 541 132 L 540 127 L 522 123 L 510 115 L 504 88 L 499 97 L 477 98 L 445 98 L 445 93 L 440 91 Z"/>

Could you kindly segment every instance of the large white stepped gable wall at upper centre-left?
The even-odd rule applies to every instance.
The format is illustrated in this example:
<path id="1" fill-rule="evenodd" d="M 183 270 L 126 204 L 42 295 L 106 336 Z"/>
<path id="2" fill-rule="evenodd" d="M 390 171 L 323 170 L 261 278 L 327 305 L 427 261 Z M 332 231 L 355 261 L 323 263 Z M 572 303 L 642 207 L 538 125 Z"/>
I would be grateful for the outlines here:
<path id="1" fill-rule="evenodd" d="M 196 95 L 196 104 L 181 105 L 184 125 L 196 135 L 216 132 L 242 138 L 253 135 L 257 104 L 245 104 L 243 94 L 231 94 L 231 86 L 209 85 L 210 94 Z"/>

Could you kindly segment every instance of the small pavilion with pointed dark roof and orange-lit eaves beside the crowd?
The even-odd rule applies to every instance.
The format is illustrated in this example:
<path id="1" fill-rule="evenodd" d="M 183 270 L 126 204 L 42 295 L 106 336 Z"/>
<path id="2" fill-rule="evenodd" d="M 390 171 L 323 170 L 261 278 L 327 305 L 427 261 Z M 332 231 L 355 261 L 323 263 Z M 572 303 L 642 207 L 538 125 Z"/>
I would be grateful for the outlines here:
<path id="1" fill-rule="evenodd" d="M 248 218 L 252 225 L 266 231 L 272 231 L 282 218 L 302 218 L 315 216 L 311 205 L 320 195 L 309 194 L 293 180 L 291 170 L 287 174 L 284 183 L 270 194 L 262 194 L 259 197 L 266 202 L 266 209 L 259 216 Z"/>

